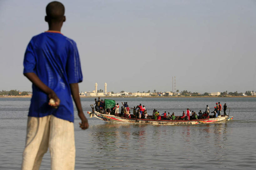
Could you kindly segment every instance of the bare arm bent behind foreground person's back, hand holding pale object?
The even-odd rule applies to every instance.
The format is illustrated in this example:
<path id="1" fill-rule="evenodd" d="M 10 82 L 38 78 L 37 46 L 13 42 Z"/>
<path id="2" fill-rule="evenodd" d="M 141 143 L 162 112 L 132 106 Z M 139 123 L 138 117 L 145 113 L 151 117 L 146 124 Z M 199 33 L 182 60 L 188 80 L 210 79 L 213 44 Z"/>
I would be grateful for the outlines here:
<path id="1" fill-rule="evenodd" d="M 34 84 L 36 85 L 40 90 L 42 90 L 45 94 L 48 95 L 49 99 L 54 99 L 55 104 L 48 103 L 50 106 L 57 107 L 60 104 L 60 100 L 58 96 L 55 94 L 55 92 L 50 89 L 47 85 L 45 85 L 39 77 L 35 73 L 24 73 L 24 75 Z"/>

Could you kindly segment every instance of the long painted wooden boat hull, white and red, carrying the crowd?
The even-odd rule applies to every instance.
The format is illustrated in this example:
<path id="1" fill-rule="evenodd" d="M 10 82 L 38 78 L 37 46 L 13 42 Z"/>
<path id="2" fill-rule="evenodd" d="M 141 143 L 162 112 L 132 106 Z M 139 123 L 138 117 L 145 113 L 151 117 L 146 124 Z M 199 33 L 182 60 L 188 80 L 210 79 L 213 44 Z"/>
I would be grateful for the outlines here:
<path id="1" fill-rule="evenodd" d="M 163 120 L 161 116 L 161 120 L 154 120 L 152 116 L 148 116 L 148 119 L 136 119 L 133 114 L 131 114 L 132 118 L 121 117 L 120 114 L 118 116 L 111 114 L 102 114 L 99 112 L 87 112 L 91 117 L 95 117 L 97 119 L 101 119 L 105 122 L 111 123 L 133 123 L 133 124 L 162 124 L 162 125 L 184 125 L 184 124 L 208 124 L 208 123 L 216 123 L 222 121 L 228 121 L 233 119 L 233 116 L 220 116 L 213 117 L 210 116 L 209 119 L 194 119 L 194 120 L 179 120 L 180 116 L 176 116 L 177 120 Z M 191 117 L 191 116 L 190 116 Z"/>

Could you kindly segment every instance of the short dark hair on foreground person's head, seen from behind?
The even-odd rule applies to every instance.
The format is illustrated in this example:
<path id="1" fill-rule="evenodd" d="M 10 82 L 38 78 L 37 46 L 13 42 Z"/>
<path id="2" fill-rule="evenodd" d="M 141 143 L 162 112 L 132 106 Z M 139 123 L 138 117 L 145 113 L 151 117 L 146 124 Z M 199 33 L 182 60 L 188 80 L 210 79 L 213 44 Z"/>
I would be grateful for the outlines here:
<path id="1" fill-rule="evenodd" d="M 49 19 L 53 19 L 56 22 L 63 19 L 65 13 L 65 7 L 61 2 L 53 1 L 46 6 L 46 15 Z"/>

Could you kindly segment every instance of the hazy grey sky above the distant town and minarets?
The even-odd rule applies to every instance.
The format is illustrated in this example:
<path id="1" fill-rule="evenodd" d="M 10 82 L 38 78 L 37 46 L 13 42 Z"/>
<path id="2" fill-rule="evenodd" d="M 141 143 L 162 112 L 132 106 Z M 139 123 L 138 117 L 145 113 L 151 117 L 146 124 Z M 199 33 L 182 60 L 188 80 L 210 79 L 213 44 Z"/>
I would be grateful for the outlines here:
<path id="1" fill-rule="evenodd" d="M 0 0 L 0 90 L 31 90 L 23 57 L 48 30 L 51 1 Z M 76 41 L 80 91 L 256 91 L 256 1 L 61 1 Z"/>

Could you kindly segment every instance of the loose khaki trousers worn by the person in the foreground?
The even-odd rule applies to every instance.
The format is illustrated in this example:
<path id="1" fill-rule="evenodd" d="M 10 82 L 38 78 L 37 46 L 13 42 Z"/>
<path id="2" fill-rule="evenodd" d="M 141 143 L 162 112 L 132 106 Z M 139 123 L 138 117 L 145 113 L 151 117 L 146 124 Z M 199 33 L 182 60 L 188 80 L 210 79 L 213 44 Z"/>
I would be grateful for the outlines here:
<path id="1" fill-rule="evenodd" d="M 51 170 L 75 168 L 74 124 L 53 115 L 28 117 L 22 170 L 38 170 L 50 150 Z"/>

